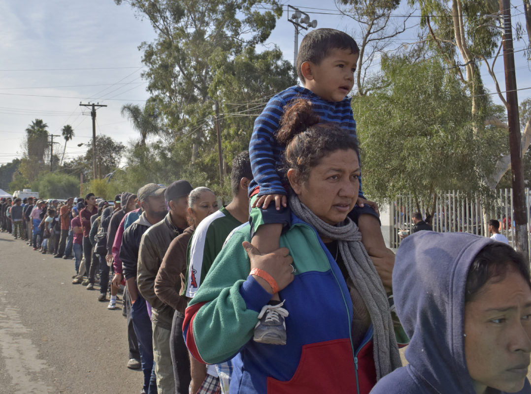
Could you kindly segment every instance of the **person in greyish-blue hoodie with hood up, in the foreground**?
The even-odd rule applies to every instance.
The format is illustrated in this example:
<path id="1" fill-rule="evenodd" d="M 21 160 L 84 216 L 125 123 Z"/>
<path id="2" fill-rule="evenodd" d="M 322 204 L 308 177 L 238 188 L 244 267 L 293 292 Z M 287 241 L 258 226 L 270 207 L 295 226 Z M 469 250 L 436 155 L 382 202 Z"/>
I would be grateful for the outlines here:
<path id="1" fill-rule="evenodd" d="M 520 253 L 473 234 L 421 231 L 400 244 L 392 283 L 409 364 L 371 394 L 531 393 L 531 282 Z"/>

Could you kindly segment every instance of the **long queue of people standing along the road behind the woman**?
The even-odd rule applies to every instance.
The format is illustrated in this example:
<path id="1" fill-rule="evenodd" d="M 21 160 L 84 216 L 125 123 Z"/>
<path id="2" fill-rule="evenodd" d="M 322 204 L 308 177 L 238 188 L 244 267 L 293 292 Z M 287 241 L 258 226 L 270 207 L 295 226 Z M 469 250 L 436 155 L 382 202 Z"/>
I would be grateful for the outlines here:
<path id="1" fill-rule="evenodd" d="M 30 200 L 28 204 L 28 244 L 57 258 L 70 258 L 68 252 L 72 253 L 72 284 L 82 284 L 87 290 L 99 285 L 98 301 L 108 300 L 110 310 L 116 308 L 118 292 L 123 289 L 129 346 L 126 365 L 142 369 L 142 393 L 220 390 L 215 367 L 195 361 L 187 351 L 182 324 L 187 302 L 193 297 L 186 297 L 190 269 L 198 275 L 190 284 L 196 289 L 228 234 L 249 218 L 249 153 L 237 155 L 232 164 L 233 199 L 221 208 L 212 190 L 193 188 L 186 180 L 167 187 L 148 183 L 136 194 L 115 196 L 112 206 L 92 193 L 59 204 L 55 200 L 50 204 L 37 200 L 34 206 Z M 14 211 L 10 209 L 11 215 L 16 215 Z M 45 234 L 48 228 L 53 234 L 49 237 Z M 193 234 L 197 238 L 192 242 Z M 192 268 L 190 261 L 195 261 Z"/>

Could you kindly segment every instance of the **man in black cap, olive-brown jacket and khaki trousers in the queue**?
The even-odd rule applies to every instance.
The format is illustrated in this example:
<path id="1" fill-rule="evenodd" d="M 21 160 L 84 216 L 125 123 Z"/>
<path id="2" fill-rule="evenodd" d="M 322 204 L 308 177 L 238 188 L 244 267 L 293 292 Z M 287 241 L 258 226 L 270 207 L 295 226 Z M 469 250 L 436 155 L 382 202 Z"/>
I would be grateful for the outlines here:
<path id="1" fill-rule="evenodd" d="M 140 242 L 136 284 L 138 291 L 152 308 L 153 357 L 159 394 L 176 392 L 172 357 L 168 346 L 174 310 L 155 295 L 155 278 L 169 244 L 187 227 L 186 212 L 190 191 L 192 185 L 186 180 L 175 181 L 166 188 L 164 198 L 169 212 L 164 220 L 149 227 Z M 187 382 L 179 392 L 187 392 L 189 383 Z"/>

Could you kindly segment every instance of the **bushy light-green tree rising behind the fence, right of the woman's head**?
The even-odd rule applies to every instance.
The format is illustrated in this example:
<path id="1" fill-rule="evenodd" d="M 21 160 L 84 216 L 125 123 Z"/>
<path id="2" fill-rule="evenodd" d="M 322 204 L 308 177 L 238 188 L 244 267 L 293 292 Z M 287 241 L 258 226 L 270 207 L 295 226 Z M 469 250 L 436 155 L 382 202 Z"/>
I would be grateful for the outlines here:
<path id="1" fill-rule="evenodd" d="M 354 101 L 367 196 L 410 192 L 431 206 L 441 190 L 482 190 L 502 144 L 497 130 L 475 135 L 463 86 L 438 59 L 387 59 L 382 68 L 388 87 Z"/>

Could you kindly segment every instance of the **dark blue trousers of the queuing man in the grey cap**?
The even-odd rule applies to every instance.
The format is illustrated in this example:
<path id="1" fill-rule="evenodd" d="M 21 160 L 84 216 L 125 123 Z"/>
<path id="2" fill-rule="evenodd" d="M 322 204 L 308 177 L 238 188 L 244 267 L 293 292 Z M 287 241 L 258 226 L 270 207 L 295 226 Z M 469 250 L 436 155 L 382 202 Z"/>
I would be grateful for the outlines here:
<path id="1" fill-rule="evenodd" d="M 148 315 L 148 307 L 140 293 L 134 304 L 131 305 L 131 319 L 133 320 L 136 339 L 138 339 L 140 362 L 144 373 L 144 390 L 147 393 L 156 393 L 157 381 L 152 378 L 153 372 L 155 372 L 153 369 L 153 329 Z"/>

